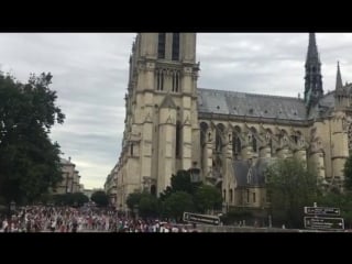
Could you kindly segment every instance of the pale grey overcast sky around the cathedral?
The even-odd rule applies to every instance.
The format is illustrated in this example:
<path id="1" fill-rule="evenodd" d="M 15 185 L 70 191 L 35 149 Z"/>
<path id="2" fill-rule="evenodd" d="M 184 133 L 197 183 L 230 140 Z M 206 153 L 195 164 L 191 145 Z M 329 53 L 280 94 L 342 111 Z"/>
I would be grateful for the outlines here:
<path id="1" fill-rule="evenodd" d="M 103 187 L 124 129 L 124 94 L 134 33 L 0 33 L 0 69 L 21 81 L 51 72 L 66 114 L 52 130 L 85 188 Z M 352 34 L 318 33 L 324 92 L 337 61 L 352 80 Z M 198 87 L 277 96 L 304 95 L 308 33 L 197 34 Z"/>

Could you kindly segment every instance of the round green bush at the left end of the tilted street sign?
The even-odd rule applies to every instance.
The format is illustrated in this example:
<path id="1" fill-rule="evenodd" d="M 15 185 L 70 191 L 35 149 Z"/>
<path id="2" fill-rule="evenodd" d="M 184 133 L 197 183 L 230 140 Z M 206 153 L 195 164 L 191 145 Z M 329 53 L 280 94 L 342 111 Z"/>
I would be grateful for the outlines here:
<path id="1" fill-rule="evenodd" d="M 163 212 L 167 217 L 173 217 L 179 221 L 185 211 L 194 210 L 194 201 L 191 195 L 186 191 L 176 191 L 172 194 L 163 204 Z"/>

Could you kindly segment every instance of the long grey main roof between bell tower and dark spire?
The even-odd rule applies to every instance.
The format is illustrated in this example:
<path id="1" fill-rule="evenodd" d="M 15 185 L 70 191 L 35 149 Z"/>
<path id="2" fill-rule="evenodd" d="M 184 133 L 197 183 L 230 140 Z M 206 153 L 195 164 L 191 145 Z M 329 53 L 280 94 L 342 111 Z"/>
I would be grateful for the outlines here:
<path id="1" fill-rule="evenodd" d="M 198 88 L 198 109 L 204 113 L 306 120 L 304 100 L 292 97 Z"/>

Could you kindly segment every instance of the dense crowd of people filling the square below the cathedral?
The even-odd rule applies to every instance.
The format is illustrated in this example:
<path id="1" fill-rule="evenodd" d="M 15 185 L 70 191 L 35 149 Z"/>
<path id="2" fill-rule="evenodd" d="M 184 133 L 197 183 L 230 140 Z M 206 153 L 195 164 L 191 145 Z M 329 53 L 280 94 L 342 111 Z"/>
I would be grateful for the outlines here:
<path id="1" fill-rule="evenodd" d="M 99 208 L 28 206 L 0 217 L 0 232 L 197 232 L 195 224 L 136 219 Z"/>

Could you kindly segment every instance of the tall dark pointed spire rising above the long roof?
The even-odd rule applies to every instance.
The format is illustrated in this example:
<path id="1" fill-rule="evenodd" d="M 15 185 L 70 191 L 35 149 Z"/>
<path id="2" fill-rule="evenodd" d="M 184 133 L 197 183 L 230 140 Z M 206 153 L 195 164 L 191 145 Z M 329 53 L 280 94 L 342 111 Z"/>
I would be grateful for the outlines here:
<path id="1" fill-rule="evenodd" d="M 321 63 L 315 33 L 309 33 L 309 44 L 305 67 L 305 102 L 309 110 L 310 107 L 316 105 L 323 95 Z"/>

